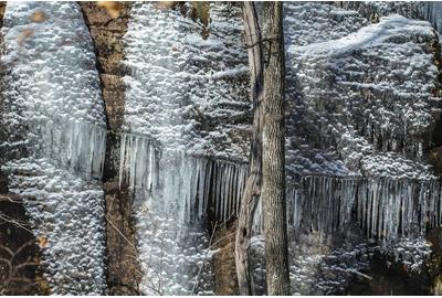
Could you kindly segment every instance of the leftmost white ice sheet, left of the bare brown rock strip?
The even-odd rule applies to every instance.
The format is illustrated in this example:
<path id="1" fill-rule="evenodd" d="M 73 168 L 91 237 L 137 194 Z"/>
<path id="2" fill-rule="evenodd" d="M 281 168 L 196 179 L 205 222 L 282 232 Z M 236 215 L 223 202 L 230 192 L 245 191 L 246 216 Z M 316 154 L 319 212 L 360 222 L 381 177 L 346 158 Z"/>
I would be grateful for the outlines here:
<path id="1" fill-rule="evenodd" d="M 104 194 L 92 178 L 103 171 L 106 125 L 83 14 L 74 2 L 8 2 L 2 35 L 9 190 L 48 238 L 51 292 L 103 294 Z"/>

